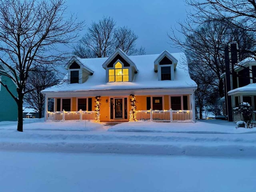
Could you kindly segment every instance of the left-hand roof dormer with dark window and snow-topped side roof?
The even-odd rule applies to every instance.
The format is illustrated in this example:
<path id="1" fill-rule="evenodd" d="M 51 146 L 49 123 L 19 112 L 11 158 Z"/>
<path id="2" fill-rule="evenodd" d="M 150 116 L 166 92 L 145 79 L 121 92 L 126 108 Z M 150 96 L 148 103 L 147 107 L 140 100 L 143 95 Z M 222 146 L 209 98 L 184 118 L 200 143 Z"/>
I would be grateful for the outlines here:
<path id="1" fill-rule="evenodd" d="M 65 65 L 65 69 L 68 70 L 68 83 L 70 84 L 84 83 L 94 73 L 85 64 L 82 64 L 76 56 L 70 59 Z"/>

